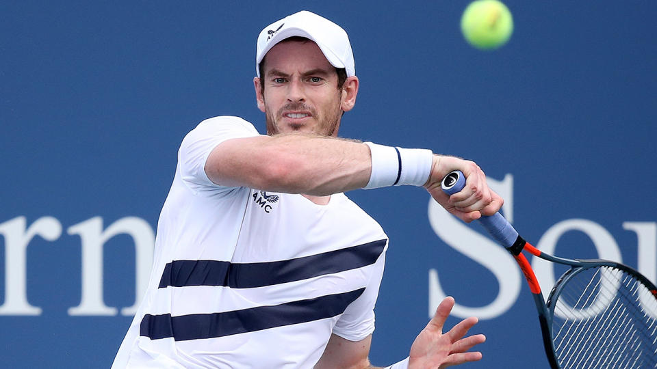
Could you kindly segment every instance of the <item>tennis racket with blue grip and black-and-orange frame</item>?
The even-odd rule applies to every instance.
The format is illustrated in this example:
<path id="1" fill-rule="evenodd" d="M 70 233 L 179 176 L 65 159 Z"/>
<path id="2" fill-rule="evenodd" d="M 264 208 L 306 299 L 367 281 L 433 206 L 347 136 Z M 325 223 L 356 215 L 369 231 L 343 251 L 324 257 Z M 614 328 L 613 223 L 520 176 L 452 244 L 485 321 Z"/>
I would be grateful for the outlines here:
<path id="1" fill-rule="evenodd" d="M 465 187 L 456 171 L 441 183 L 452 195 Z M 657 288 L 638 271 L 609 260 L 548 255 L 526 242 L 500 213 L 482 226 L 518 262 L 539 313 L 545 353 L 553 369 L 657 368 Z M 521 251 L 570 267 L 548 301 Z"/>

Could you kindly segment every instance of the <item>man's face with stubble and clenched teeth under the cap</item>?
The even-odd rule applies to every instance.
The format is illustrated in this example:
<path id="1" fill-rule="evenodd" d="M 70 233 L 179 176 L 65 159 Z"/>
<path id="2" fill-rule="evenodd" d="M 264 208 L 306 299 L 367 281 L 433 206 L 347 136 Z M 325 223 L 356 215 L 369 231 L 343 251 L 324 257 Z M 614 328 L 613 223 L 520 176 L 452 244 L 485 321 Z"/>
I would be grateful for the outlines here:
<path id="1" fill-rule="evenodd" d="M 263 61 L 264 62 L 264 61 Z M 267 133 L 314 133 L 337 136 L 343 102 L 337 72 L 312 41 L 283 41 L 266 55 L 264 92 L 254 80 Z"/>

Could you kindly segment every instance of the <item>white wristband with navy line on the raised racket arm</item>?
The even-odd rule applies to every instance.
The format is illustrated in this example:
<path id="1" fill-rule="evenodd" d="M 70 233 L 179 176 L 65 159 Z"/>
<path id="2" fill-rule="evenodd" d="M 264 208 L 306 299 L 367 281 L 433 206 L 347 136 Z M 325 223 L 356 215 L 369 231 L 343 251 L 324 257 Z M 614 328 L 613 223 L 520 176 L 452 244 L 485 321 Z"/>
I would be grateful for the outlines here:
<path id="1" fill-rule="evenodd" d="M 433 152 L 405 149 L 365 142 L 372 155 L 372 174 L 364 189 L 412 184 L 422 186 L 429 179 Z"/>

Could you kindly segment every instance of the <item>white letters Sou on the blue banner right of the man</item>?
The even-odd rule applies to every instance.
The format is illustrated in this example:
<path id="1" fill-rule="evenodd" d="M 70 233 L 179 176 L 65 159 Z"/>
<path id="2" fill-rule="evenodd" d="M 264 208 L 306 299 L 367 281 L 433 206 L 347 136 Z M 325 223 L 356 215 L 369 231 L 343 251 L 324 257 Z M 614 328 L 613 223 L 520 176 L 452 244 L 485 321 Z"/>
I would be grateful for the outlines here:
<path id="1" fill-rule="evenodd" d="M 492 178 L 487 178 L 487 180 L 493 191 L 504 198 L 502 214 L 508 221 L 513 223 L 513 177 L 511 177 L 511 174 L 507 174 L 501 182 Z M 450 215 L 433 199 L 429 200 L 428 218 L 434 232 L 443 242 L 486 267 L 493 273 L 500 286 L 498 296 L 488 305 L 468 308 L 456 304 L 452 314 L 460 318 L 478 316 L 480 319 L 497 318 L 504 314 L 515 303 L 521 288 L 521 278 L 515 260 L 506 250 L 491 241 L 488 236 L 483 236 L 466 226 L 465 223 Z M 637 269 L 647 279 L 655 283 L 657 281 L 657 223 L 626 221 L 623 223 L 623 229 L 636 233 L 639 248 Z M 554 254 L 558 239 L 569 231 L 579 231 L 589 236 L 593 241 L 593 245 L 595 245 L 599 258 L 622 262 L 621 251 L 612 234 L 600 224 L 588 219 L 567 219 L 556 223 L 543 234 L 539 243 L 537 243 L 537 248 L 547 254 Z M 543 294 L 549 294 L 555 283 L 554 264 L 540 258 L 533 258 L 532 268 L 539 279 Z M 443 292 L 436 269 L 429 269 L 428 275 L 428 315 L 431 317 L 440 301 L 447 294 Z M 547 296 L 545 297 L 547 298 Z M 647 298 L 649 296 L 641 297 L 642 301 Z M 595 308 L 595 306 L 591 306 L 591 310 L 580 310 L 578 314 L 585 318 L 595 314 Z"/>

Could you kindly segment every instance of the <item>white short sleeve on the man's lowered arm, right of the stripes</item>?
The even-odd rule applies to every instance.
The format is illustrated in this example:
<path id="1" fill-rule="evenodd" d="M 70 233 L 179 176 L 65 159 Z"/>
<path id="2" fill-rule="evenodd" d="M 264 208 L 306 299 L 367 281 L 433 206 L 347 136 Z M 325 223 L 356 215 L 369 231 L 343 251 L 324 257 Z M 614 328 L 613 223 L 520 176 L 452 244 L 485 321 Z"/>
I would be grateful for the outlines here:
<path id="1" fill-rule="evenodd" d="M 384 264 L 385 251 L 371 266 L 370 283 L 365 288 L 363 295 L 347 307 L 333 327 L 333 333 L 337 336 L 357 342 L 374 332 L 374 305 L 376 305 L 378 288 L 381 286 L 381 278 L 383 278 Z"/>

